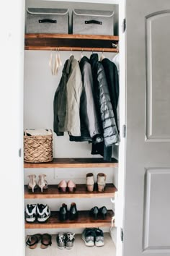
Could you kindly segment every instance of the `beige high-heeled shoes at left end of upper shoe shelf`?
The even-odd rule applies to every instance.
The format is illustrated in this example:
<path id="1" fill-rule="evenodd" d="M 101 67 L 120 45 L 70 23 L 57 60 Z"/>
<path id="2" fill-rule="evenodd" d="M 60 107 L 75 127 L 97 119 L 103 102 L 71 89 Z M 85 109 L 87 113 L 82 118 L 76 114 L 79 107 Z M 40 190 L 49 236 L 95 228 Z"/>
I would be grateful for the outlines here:
<path id="1" fill-rule="evenodd" d="M 28 189 L 32 189 L 32 192 L 34 192 L 34 189 L 36 189 L 37 186 L 40 187 L 41 192 L 43 192 L 43 189 L 48 189 L 48 182 L 45 179 L 46 176 L 47 175 L 45 175 L 45 174 L 40 174 L 39 180 L 38 180 L 38 182 L 36 182 L 35 174 L 28 175 L 28 177 L 30 178 L 30 181 L 28 183 Z"/>

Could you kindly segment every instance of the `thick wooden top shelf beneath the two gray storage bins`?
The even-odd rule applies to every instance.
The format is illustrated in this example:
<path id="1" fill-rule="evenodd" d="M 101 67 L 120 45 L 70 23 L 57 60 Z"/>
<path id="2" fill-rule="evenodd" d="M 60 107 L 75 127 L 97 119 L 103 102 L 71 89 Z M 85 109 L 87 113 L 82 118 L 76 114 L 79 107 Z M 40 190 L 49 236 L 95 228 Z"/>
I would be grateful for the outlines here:
<path id="1" fill-rule="evenodd" d="M 25 50 L 117 52 L 116 35 L 25 34 Z"/>

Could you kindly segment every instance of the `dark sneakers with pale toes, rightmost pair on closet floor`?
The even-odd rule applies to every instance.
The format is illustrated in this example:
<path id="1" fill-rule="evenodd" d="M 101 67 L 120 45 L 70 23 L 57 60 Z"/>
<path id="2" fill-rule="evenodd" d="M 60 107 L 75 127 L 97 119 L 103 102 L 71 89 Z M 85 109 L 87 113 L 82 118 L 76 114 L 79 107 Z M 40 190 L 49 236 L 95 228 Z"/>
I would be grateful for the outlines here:
<path id="1" fill-rule="evenodd" d="M 103 246 L 104 245 L 104 234 L 101 229 L 84 229 L 81 238 L 84 240 L 86 246 Z"/>

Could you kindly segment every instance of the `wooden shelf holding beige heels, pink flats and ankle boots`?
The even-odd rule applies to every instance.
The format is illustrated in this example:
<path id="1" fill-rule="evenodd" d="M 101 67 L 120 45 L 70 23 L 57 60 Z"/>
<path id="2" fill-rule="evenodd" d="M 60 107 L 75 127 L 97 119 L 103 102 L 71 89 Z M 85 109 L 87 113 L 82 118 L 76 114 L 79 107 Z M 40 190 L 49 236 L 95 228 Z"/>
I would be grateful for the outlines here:
<path id="1" fill-rule="evenodd" d="M 24 198 L 35 199 L 35 198 L 96 198 L 96 197 L 115 197 L 116 187 L 113 184 L 106 184 L 104 192 L 88 192 L 86 191 L 86 184 L 77 184 L 76 191 L 70 192 L 59 192 L 58 185 L 48 185 L 48 189 L 43 192 L 38 187 L 35 192 L 28 189 L 27 185 L 24 185 Z"/>

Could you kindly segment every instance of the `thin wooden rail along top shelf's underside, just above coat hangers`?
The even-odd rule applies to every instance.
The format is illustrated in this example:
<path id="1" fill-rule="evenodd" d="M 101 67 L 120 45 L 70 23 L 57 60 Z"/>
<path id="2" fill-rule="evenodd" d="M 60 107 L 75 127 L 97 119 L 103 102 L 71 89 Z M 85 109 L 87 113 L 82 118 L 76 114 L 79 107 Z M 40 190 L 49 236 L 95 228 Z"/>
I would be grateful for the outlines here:
<path id="1" fill-rule="evenodd" d="M 119 52 L 118 48 L 89 48 L 89 47 L 55 47 L 55 46 L 25 46 L 25 50 L 39 51 L 102 51 L 102 52 Z"/>

